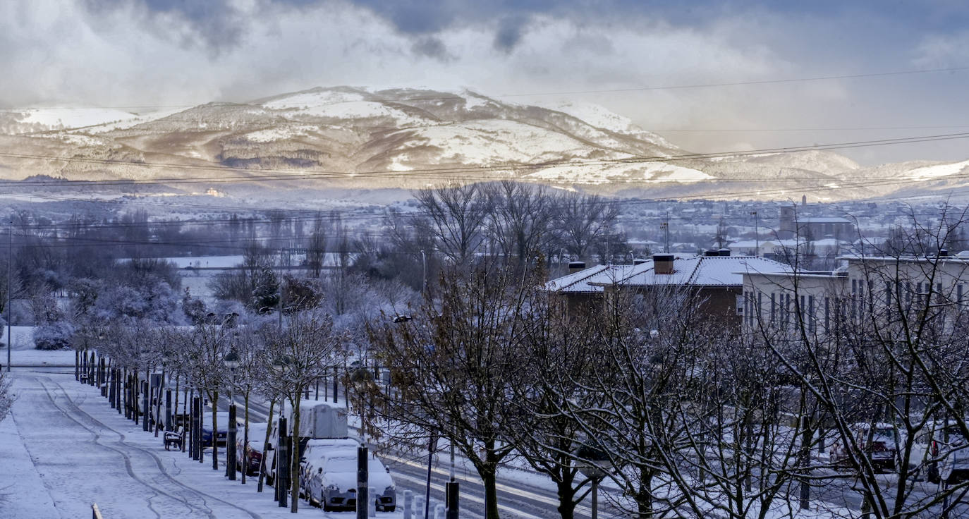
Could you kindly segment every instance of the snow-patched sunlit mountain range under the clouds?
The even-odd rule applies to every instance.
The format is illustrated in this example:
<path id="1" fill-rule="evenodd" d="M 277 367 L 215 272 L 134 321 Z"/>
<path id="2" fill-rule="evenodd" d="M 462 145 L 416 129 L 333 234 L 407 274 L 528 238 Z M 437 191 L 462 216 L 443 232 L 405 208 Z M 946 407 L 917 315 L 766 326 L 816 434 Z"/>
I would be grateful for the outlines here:
<path id="1" fill-rule="evenodd" d="M 471 91 L 314 88 L 144 113 L 31 108 L 0 113 L 0 134 L 5 178 L 219 177 L 220 192 L 226 177 L 250 189 L 516 178 L 626 196 L 843 199 L 951 189 L 969 173 L 969 161 L 861 168 L 828 151 L 691 159 L 598 105 L 527 106 Z"/>

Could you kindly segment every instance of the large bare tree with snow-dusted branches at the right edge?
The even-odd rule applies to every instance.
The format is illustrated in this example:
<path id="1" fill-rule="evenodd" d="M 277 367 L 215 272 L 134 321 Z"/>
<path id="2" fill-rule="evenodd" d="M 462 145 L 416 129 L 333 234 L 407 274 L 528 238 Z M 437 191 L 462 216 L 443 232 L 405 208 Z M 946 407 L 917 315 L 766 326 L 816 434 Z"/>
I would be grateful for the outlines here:
<path id="1" fill-rule="evenodd" d="M 863 514 L 943 517 L 969 492 L 965 481 L 929 491 L 917 477 L 944 479 L 939 471 L 962 448 L 940 434 L 969 438 L 969 272 L 942 253 L 950 229 L 913 217 L 885 250 L 848 258 L 846 275 L 831 276 L 824 292 L 810 276 L 764 287 L 784 304 L 758 324 L 760 340 L 803 398 L 817 401 L 835 443 L 830 464 L 813 463 L 849 471 L 824 488 L 857 496 Z"/>

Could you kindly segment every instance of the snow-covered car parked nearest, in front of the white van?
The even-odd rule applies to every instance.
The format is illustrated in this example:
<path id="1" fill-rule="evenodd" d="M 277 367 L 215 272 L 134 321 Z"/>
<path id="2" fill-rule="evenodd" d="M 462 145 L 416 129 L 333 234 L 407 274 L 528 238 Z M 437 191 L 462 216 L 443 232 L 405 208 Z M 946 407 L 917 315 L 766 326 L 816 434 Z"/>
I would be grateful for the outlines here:
<path id="1" fill-rule="evenodd" d="M 321 504 L 326 511 L 357 508 L 357 452 L 334 450 L 307 467 L 307 499 Z M 367 458 L 368 486 L 375 490 L 377 510 L 392 512 L 397 507 L 397 493 L 391 471 L 374 455 Z"/>

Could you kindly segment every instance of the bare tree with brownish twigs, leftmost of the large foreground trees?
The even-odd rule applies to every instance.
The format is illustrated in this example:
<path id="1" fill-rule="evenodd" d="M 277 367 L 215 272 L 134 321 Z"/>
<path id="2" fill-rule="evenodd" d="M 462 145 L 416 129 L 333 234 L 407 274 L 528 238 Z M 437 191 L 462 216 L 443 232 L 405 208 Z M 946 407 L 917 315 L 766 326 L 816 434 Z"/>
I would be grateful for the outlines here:
<path id="1" fill-rule="evenodd" d="M 425 300 L 414 320 L 377 324 L 372 344 L 391 366 L 395 390 L 378 404 L 399 420 L 391 441 L 426 444 L 447 438 L 485 484 L 485 517 L 497 519 L 498 465 L 515 451 L 512 402 L 524 371 L 524 326 L 518 317 L 538 280 L 485 261 L 466 275 L 450 269 L 440 300 Z"/>

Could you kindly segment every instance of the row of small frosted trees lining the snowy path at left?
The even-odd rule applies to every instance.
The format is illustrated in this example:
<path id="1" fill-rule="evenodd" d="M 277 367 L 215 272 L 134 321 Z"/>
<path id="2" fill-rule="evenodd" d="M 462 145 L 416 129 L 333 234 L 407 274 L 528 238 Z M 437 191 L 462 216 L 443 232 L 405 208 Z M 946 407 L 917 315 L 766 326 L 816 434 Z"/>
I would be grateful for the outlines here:
<path id="1" fill-rule="evenodd" d="M 156 322 L 136 321 L 115 324 L 102 329 L 97 350 L 109 359 L 110 367 L 121 377 L 147 380 L 151 373 L 162 372 L 174 389 L 174 412 L 178 413 L 182 394 L 182 414 L 187 412 L 190 394 L 203 396 L 212 412 L 212 468 L 218 470 L 218 431 L 220 399 L 241 397 L 243 429 L 248 438 L 249 401 L 258 395 L 270 402 L 269 421 L 277 403 L 286 402 L 293 410 L 294 431 L 299 429 L 299 401 L 310 384 L 319 382 L 345 363 L 346 334 L 333 326 L 328 315 L 319 312 L 295 313 L 280 328 L 276 321 L 258 316 L 229 314 L 216 321 L 201 321 L 191 327 L 163 327 Z M 232 359 L 233 362 L 228 362 Z M 135 392 L 129 407 L 141 409 L 142 398 Z M 151 420 L 156 428 L 165 424 L 161 399 L 156 397 L 142 419 Z M 223 423 L 226 418 L 223 418 Z M 266 431 L 267 443 L 269 431 Z M 248 444 L 248 443 L 243 443 Z M 291 506 L 298 503 L 298 457 L 293 456 L 289 481 Z M 280 471 L 284 469 L 280 468 Z M 262 490 L 262 474 L 260 490 Z"/>

